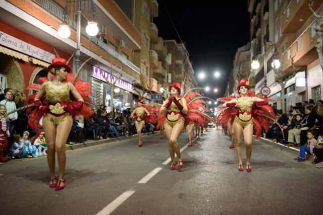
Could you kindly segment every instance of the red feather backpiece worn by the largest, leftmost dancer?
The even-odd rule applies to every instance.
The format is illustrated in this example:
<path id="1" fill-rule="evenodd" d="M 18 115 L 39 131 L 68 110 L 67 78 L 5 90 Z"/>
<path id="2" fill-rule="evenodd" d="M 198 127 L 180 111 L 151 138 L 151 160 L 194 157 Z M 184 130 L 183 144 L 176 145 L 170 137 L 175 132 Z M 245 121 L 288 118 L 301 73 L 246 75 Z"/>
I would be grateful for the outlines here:
<path id="1" fill-rule="evenodd" d="M 51 80 L 53 80 L 54 76 L 50 75 Z M 66 82 L 72 82 L 72 80 L 75 80 L 74 82 L 74 86 L 76 88 L 76 90 L 79 92 L 79 94 L 81 95 L 81 97 L 83 98 L 83 100 L 85 101 L 85 103 L 83 103 L 83 105 L 81 106 L 80 109 L 75 110 L 72 112 L 73 117 L 77 116 L 77 115 L 83 115 L 84 118 L 91 116 L 93 111 L 91 109 L 91 106 L 88 104 L 91 102 L 89 96 L 92 95 L 91 92 L 91 85 L 87 82 L 82 81 L 80 78 L 75 78 L 75 76 L 73 74 L 68 73 L 67 77 L 66 77 Z M 39 85 L 37 84 L 33 84 L 28 86 L 26 89 L 33 89 L 33 90 L 39 90 L 41 85 L 45 82 L 48 81 L 47 77 L 43 77 L 43 78 L 39 78 L 37 80 L 37 82 L 39 83 Z M 32 94 L 31 96 L 29 96 L 26 100 L 25 100 L 25 105 L 27 104 L 31 104 L 34 102 L 34 99 L 36 97 L 37 93 Z M 70 96 L 71 100 L 74 101 L 75 98 L 72 96 Z M 45 96 L 43 96 L 41 99 L 42 103 L 46 103 L 48 102 L 45 98 Z M 39 120 L 42 117 L 42 113 L 40 111 L 38 111 L 37 108 L 33 107 L 33 108 L 28 108 L 26 110 L 26 115 L 28 117 L 28 125 L 34 129 L 35 131 L 37 131 L 38 129 L 41 129 L 42 126 L 39 124 Z"/>

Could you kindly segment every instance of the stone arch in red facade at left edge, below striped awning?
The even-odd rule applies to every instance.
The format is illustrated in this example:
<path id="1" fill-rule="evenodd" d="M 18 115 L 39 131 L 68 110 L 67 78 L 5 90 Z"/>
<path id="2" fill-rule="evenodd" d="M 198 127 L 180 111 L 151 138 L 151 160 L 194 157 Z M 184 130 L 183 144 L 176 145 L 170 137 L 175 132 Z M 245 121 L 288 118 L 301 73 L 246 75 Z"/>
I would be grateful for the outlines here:
<path id="1" fill-rule="evenodd" d="M 21 67 L 12 56 L 0 53 L 0 73 L 7 81 L 7 88 L 11 88 L 13 91 L 25 89 L 25 79 Z"/>

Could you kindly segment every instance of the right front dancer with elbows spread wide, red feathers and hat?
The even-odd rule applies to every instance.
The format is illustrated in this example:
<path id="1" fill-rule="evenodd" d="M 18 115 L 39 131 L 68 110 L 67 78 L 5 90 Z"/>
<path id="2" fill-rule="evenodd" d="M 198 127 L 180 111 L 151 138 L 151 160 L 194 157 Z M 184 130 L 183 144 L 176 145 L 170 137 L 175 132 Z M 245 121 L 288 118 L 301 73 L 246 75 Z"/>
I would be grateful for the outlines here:
<path id="1" fill-rule="evenodd" d="M 249 81 L 242 79 L 238 84 L 237 90 L 240 94 L 240 98 L 232 99 L 229 102 L 224 103 L 223 107 L 229 107 L 224 111 L 222 117 L 225 119 L 231 119 L 233 123 L 233 129 L 236 135 L 236 151 L 239 161 L 239 171 L 243 171 L 242 160 L 241 160 L 241 142 L 242 136 L 244 135 L 244 141 L 246 145 L 246 170 L 251 171 L 250 159 L 252 152 L 252 134 L 255 131 L 256 137 L 261 134 L 261 127 L 268 130 L 268 118 L 274 118 L 274 111 L 268 105 L 268 101 L 264 98 L 258 98 L 249 96 L 248 91 L 250 90 Z"/>

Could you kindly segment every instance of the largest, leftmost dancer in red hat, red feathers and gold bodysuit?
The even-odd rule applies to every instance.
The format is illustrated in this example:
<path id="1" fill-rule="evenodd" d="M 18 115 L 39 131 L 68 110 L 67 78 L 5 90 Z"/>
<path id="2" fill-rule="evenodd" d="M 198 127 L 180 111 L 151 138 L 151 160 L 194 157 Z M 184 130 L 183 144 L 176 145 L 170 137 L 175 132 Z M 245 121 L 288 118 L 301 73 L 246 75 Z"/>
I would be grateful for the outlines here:
<path id="1" fill-rule="evenodd" d="M 88 96 L 91 95 L 91 86 L 70 74 L 70 68 L 63 58 L 54 58 L 48 66 L 48 71 L 50 72 L 48 77 L 52 81 L 41 78 L 38 80 L 42 83 L 41 86 L 29 86 L 28 89 L 39 91 L 36 95 L 28 97 L 25 104 L 33 99 L 35 101 L 36 108 L 27 111 L 28 114 L 30 113 L 28 124 L 34 130 L 41 127 L 38 122 L 43 117 L 42 124 L 46 133 L 47 163 L 50 172 L 49 187 L 62 190 L 65 187 L 65 143 L 72 127 L 72 116 L 82 114 L 86 118 L 92 114 L 90 106 L 83 104 L 84 101 L 90 101 Z M 73 85 L 74 81 L 76 82 Z M 58 184 L 55 177 L 55 153 L 57 153 L 60 169 Z"/>

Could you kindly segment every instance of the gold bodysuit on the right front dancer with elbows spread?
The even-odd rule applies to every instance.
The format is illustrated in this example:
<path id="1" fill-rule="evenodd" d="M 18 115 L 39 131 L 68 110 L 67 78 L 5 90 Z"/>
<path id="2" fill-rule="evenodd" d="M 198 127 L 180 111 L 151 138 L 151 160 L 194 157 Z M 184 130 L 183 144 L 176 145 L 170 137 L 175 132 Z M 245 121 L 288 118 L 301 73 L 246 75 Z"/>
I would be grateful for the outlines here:
<path id="1" fill-rule="evenodd" d="M 246 127 L 249 124 L 253 124 L 252 116 L 252 99 L 249 99 L 247 102 L 237 98 L 237 106 L 239 108 L 239 113 L 234 117 L 234 121 L 237 122 L 242 127 Z"/>

